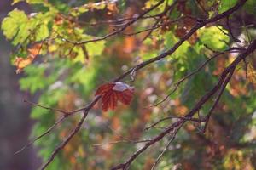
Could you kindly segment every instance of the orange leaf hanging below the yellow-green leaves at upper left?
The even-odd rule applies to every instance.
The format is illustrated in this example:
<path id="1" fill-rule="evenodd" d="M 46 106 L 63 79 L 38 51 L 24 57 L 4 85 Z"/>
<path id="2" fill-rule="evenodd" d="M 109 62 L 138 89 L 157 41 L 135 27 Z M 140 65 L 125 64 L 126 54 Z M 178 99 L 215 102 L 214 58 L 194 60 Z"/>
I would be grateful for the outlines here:
<path id="1" fill-rule="evenodd" d="M 37 57 L 37 55 L 40 53 L 42 47 L 42 43 L 37 43 L 32 46 L 32 48 L 27 49 L 28 56 L 26 59 L 21 57 L 16 57 L 14 65 L 17 67 L 16 73 L 19 74 L 23 69 L 32 63 L 32 61 Z"/>

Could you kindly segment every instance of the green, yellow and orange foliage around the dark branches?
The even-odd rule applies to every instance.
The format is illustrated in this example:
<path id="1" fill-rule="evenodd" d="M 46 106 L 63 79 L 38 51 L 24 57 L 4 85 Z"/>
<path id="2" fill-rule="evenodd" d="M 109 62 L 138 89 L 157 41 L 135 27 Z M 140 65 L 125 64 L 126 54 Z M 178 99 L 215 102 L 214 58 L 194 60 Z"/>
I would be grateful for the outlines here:
<path id="1" fill-rule="evenodd" d="M 37 94 L 38 104 L 63 111 L 83 107 L 93 99 L 101 84 L 107 81 L 108 86 L 112 85 L 113 77 L 118 77 L 131 65 L 153 59 L 172 48 L 196 24 L 195 20 L 186 17 L 183 19 L 183 16 L 213 17 L 238 2 L 180 1 L 172 13 L 161 16 L 155 26 L 155 19 L 148 17 L 114 37 L 102 38 L 125 23 L 117 19 L 142 14 L 159 1 L 79 0 L 73 3 L 60 0 L 14 0 L 13 4 L 21 1 L 31 4 L 33 13 L 26 14 L 15 8 L 1 25 L 4 36 L 16 47 L 11 61 L 17 67 L 17 73 L 23 71 L 20 88 Z M 160 14 L 166 9 L 166 5 L 170 6 L 174 2 L 165 0 L 149 12 L 148 16 Z M 254 4 L 256 2 L 253 0 L 247 1 L 230 18 L 230 26 L 234 26 L 232 29 L 236 31 L 236 37 L 243 37 L 245 41 L 256 37 L 256 29 L 249 26 L 249 21 L 238 21 L 244 21 L 245 17 L 255 20 Z M 148 36 L 148 31 L 143 30 L 152 26 L 156 28 L 151 29 Z M 137 31 L 143 32 L 135 33 Z M 102 40 L 86 42 L 97 38 Z M 218 76 L 237 54 L 219 55 L 193 77 L 182 82 L 165 102 L 155 106 L 155 103 L 172 92 L 175 82 L 195 71 L 216 51 L 223 52 L 244 44 L 247 43 L 236 42 L 230 37 L 225 21 L 202 27 L 171 56 L 160 59 L 143 71 L 134 72 L 134 82 L 130 82 L 129 77 L 125 79 L 127 84 L 134 87 L 131 104 L 133 89 L 129 91 L 130 86 L 125 89 L 129 91 L 129 102 L 123 103 L 130 105 L 116 105 L 116 99 L 112 106 L 109 104 L 102 111 L 101 105 L 96 104 L 82 129 L 56 156 L 48 169 L 109 169 L 124 162 L 143 144 L 134 141 L 154 138 L 162 128 L 176 120 L 160 122 L 157 127 L 148 131 L 144 130 L 145 127 L 166 116 L 184 116 L 214 86 Z M 171 169 L 179 163 L 183 169 L 256 167 L 253 162 L 256 157 L 255 59 L 252 55 L 247 59 L 248 66 L 241 64 L 236 69 L 212 115 L 207 132 L 200 133 L 200 123 L 187 122 L 167 148 L 158 169 Z M 122 98 L 119 100 L 122 101 Z M 201 116 L 207 115 L 211 102 L 212 99 L 201 108 Z M 107 111 L 108 108 L 114 110 Z M 44 133 L 61 114 L 34 106 L 31 116 L 37 123 L 33 127 L 32 138 Z M 70 116 L 53 133 L 35 143 L 43 161 L 47 161 L 56 145 L 67 137 L 80 117 L 79 113 Z M 167 143 L 168 138 L 165 138 L 146 150 L 131 164 L 131 169 L 150 169 Z"/>

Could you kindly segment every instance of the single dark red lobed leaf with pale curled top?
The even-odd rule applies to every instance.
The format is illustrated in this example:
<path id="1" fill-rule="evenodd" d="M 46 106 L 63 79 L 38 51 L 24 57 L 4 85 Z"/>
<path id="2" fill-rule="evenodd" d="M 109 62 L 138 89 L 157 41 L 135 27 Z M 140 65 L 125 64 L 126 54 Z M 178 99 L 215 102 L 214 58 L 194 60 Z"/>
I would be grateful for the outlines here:
<path id="1" fill-rule="evenodd" d="M 114 110 L 118 101 L 130 105 L 134 88 L 124 82 L 109 82 L 96 90 L 96 95 L 102 96 L 102 111 Z"/>

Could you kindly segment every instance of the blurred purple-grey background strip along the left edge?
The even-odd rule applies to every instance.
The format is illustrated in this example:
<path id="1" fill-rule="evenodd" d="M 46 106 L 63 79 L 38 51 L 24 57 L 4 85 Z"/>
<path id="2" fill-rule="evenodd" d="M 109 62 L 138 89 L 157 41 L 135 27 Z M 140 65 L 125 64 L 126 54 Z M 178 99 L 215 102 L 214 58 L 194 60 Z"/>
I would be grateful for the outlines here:
<path id="1" fill-rule="evenodd" d="M 15 6 L 11 6 L 11 3 L 10 0 L 0 1 L 0 22 L 14 8 L 30 11 L 26 3 Z M 10 65 L 11 52 L 10 42 L 6 41 L 0 31 L 0 169 L 32 170 L 40 163 L 33 147 L 14 155 L 15 151 L 27 143 L 33 121 L 29 118 L 30 106 L 23 102 L 29 94 L 21 92 L 19 88 L 18 81 L 22 74 L 15 74 L 15 66 Z"/>

